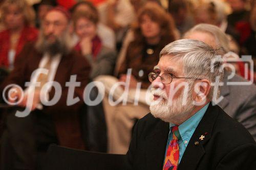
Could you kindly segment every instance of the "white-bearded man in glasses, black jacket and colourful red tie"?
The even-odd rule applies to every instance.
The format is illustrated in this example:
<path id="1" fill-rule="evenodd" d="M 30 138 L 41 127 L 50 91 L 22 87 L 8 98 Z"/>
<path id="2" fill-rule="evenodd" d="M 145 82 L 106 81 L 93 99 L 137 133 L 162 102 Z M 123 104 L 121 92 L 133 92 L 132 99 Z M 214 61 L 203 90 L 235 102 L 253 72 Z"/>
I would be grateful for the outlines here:
<path id="1" fill-rule="evenodd" d="M 129 169 L 253 169 L 250 133 L 211 101 L 223 77 L 221 50 L 198 40 L 166 45 L 148 75 L 154 101 L 138 120 Z M 213 99 L 213 100 L 212 100 Z"/>

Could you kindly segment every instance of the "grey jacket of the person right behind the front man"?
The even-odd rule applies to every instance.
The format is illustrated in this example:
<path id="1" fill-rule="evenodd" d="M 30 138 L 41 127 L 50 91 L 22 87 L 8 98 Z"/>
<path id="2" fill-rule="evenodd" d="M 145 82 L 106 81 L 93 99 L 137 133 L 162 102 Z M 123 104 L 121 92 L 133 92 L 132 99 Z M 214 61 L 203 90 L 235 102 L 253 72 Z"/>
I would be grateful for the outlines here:
<path id="1" fill-rule="evenodd" d="M 218 105 L 232 118 L 240 122 L 256 141 L 256 86 L 251 85 L 227 85 L 227 82 L 248 82 L 244 78 L 224 71 L 224 86 L 220 87 L 224 97 Z"/>

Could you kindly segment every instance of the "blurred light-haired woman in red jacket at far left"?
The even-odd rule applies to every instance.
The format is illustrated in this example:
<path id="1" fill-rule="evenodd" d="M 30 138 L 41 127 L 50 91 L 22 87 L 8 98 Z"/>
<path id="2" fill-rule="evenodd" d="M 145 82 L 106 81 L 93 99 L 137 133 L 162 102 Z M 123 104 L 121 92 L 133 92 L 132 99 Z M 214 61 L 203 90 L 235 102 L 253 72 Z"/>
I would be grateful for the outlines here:
<path id="1" fill-rule="evenodd" d="M 6 0 L 1 13 L 6 30 L 0 33 L 0 67 L 12 69 L 24 44 L 37 38 L 35 12 L 25 0 Z"/>

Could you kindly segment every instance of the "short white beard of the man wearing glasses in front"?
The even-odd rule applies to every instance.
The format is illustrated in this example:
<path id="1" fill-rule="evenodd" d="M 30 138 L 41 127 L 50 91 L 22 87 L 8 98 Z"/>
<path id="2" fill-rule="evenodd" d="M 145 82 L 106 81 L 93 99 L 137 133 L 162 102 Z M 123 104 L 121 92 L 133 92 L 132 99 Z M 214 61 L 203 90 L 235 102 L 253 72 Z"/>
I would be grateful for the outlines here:
<path id="1" fill-rule="evenodd" d="M 168 100 L 165 91 L 159 89 L 159 93 L 157 94 L 160 94 L 164 99 L 153 101 L 150 105 L 150 111 L 154 117 L 160 118 L 164 122 L 182 123 L 184 117 L 187 117 L 195 108 L 190 87 L 189 92 L 184 95 L 184 100 L 186 100 L 185 105 L 182 105 L 183 93 L 178 99 L 173 99 L 172 102 Z"/>

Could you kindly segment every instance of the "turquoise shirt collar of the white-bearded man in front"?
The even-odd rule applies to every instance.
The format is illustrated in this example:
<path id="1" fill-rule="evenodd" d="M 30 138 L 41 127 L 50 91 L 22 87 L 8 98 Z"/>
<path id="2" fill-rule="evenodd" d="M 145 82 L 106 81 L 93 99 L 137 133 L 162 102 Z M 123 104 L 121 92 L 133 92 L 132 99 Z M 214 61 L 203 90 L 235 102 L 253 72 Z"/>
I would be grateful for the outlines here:
<path id="1" fill-rule="evenodd" d="M 185 122 L 183 122 L 179 126 L 179 133 L 183 141 L 187 140 L 189 141 L 193 133 L 195 132 L 199 122 L 203 118 L 207 108 L 209 106 L 209 103 L 206 104 L 203 108 L 201 108 L 197 113 L 195 113 L 193 116 L 191 116 L 189 119 L 187 119 Z M 170 130 L 172 127 L 176 126 L 173 123 L 169 123 Z M 187 145 L 188 142 L 185 143 Z"/>

